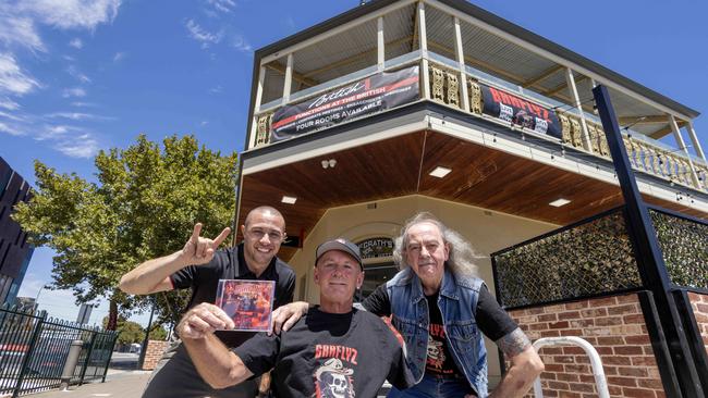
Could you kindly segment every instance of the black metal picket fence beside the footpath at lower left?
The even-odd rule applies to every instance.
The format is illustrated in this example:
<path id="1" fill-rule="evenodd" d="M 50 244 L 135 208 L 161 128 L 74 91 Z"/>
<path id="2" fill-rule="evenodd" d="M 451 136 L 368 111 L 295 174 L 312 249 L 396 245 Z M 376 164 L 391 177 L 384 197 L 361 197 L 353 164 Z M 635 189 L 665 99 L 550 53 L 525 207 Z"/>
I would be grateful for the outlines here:
<path id="1" fill-rule="evenodd" d="M 71 384 L 106 380 L 118 334 L 0 308 L 0 396 L 44 391 L 61 384 L 72 341 L 82 340 Z"/>

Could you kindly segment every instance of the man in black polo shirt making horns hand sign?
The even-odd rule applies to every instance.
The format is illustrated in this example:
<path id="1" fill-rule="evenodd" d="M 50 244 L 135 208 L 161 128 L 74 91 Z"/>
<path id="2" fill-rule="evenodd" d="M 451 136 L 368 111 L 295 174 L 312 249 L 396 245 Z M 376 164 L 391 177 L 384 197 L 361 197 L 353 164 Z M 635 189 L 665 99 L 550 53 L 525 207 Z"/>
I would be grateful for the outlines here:
<path id="1" fill-rule="evenodd" d="M 158 259 L 148 260 L 123 275 L 121 290 L 132 295 L 150 295 L 158 291 L 192 288 L 186 310 L 202 303 L 216 301 L 219 279 L 276 281 L 274 307 L 293 300 L 295 273 L 276 254 L 285 238 L 285 221 L 271 207 L 252 210 L 241 226 L 244 241 L 237 247 L 218 249 L 229 236 L 224 228 L 215 239 L 200 237 L 202 224 L 196 224 L 192 237 L 182 250 Z M 235 335 L 223 333 L 219 338 L 234 347 L 240 341 Z M 254 397 L 257 381 L 234 388 L 216 390 L 204 383 L 181 344 L 166 352 L 143 394 L 155 397 Z"/>

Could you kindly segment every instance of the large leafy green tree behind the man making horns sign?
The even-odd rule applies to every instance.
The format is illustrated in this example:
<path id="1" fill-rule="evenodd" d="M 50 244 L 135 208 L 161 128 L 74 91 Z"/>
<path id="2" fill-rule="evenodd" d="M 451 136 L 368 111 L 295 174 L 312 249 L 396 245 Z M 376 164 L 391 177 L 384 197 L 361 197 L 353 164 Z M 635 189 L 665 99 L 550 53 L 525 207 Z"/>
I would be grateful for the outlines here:
<path id="1" fill-rule="evenodd" d="M 53 287 L 73 289 L 77 302 L 110 299 L 107 326 L 114 329 L 119 312 L 129 316 L 151 303 L 118 289 L 124 273 L 182 248 L 196 222 L 213 236 L 232 224 L 236 161 L 235 152 L 199 148 L 193 136 L 168 137 L 160 148 L 145 135 L 127 149 L 100 151 L 96 182 L 35 161 L 37 189 L 13 219 L 33 245 L 57 251 Z M 157 323 L 176 322 L 185 297 L 158 295 Z"/>

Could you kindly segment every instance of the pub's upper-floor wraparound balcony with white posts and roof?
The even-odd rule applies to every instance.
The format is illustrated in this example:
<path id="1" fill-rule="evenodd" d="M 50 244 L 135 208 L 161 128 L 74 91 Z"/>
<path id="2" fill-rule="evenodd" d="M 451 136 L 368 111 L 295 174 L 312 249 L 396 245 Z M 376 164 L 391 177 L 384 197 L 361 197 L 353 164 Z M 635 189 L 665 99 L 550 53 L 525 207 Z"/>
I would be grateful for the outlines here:
<path id="1" fill-rule="evenodd" d="M 610 88 L 624 126 L 635 171 L 670 186 L 708 191 L 708 162 L 691 123 L 697 112 L 474 5 L 456 1 L 374 3 L 378 5 L 357 8 L 310 28 L 314 35 L 305 32 L 256 53 L 247 149 L 274 144 L 273 115 L 284 109 L 331 96 L 356 82 L 418 66 L 418 96 L 400 107 L 432 101 L 518 135 L 558 144 L 563 152 L 569 149 L 578 157 L 607 160 L 609 150 L 590 92 L 596 83 L 602 83 Z M 537 128 L 528 119 L 525 122 L 491 114 L 483 95 L 490 88 L 549 112 L 557 117 L 554 132 Z M 374 113 L 310 125 L 301 134 L 319 134 Z M 685 150 L 682 128 L 697 156 Z M 658 140 L 668 134 L 673 134 L 675 148 Z"/>

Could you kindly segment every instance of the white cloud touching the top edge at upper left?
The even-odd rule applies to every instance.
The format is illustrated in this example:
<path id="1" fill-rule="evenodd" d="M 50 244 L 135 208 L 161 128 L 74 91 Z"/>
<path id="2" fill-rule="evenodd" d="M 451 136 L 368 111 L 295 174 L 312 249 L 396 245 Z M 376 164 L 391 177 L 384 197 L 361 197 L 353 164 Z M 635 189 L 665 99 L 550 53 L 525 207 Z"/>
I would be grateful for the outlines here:
<path id="1" fill-rule="evenodd" d="M 111 23 L 121 0 L 23 0 L 17 8 L 45 24 L 63 29 L 94 29 Z"/>

